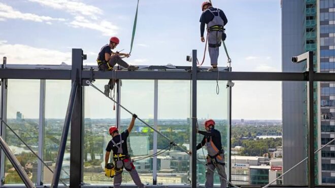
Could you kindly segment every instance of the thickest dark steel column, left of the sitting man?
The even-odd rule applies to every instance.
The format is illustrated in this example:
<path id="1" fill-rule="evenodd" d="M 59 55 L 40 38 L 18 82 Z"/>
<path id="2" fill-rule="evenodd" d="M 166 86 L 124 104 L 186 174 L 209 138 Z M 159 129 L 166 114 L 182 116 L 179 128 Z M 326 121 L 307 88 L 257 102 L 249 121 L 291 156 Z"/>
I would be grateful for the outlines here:
<path id="1" fill-rule="evenodd" d="M 72 82 L 78 82 L 77 95 L 71 118 L 71 153 L 70 153 L 70 186 L 79 188 L 83 182 L 83 87 L 81 71 L 83 70 L 83 50 L 72 49 Z"/>

